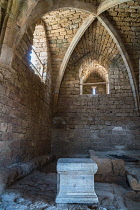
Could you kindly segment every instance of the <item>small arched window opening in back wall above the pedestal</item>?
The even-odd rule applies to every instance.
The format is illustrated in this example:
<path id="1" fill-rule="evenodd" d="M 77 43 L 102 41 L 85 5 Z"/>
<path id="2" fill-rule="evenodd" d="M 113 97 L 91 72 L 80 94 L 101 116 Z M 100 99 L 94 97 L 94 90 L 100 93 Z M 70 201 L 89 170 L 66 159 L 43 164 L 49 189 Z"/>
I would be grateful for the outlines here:
<path id="1" fill-rule="evenodd" d="M 83 61 L 79 69 L 80 95 L 109 94 L 108 71 L 95 59 Z"/>

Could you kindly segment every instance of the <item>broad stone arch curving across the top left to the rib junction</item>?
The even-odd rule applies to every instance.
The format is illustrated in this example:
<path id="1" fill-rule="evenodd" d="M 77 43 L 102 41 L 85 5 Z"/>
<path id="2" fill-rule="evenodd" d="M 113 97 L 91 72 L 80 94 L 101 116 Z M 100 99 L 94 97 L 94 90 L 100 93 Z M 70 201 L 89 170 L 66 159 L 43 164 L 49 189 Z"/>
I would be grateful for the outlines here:
<path id="1" fill-rule="evenodd" d="M 28 9 L 27 12 L 24 14 L 24 16 L 21 16 L 17 19 L 17 25 L 18 28 L 15 28 L 13 31 L 12 29 L 14 27 L 10 27 L 11 29 L 8 29 L 8 34 L 10 34 L 11 37 L 15 37 L 14 40 L 11 40 L 10 47 L 7 44 L 7 40 L 2 40 L 2 43 L 4 43 L 4 46 L 2 47 L 2 53 L 0 60 L 4 63 L 10 64 L 12 59 L 5 60 L 5 55 L 7 53 L 10 53 L 10 57 L 12 58 L 13 52 L 20 42 L 23 34 L 26 32 L 27 28 L 29 28 L 33 22 L 35 22 L 38 18 L 41 18 L 45 13 L 51 12 L 53 10 L 63 9 L 63 8 L 74 8 L 79 9 L 88 12 L 89 14 L 92 14 L 94 16 L 97 16 L 98 14 L 104 12 L 105 10 L 123 3 L 127 1 L 132 0 L 105 0 L 102 2 L 99 7 L 97 8 L 92 3 L 87 3 L 79 0 L 42 0 L 42 1 L 35 1 L 32 2 L 31 0 L 28 0 Z M 97 12 L 98 10 L 98 12 Z M 13 35 L 14 33 L 14 35 Z M 6 36 L 8 37 L 8 36 Z M 2 45 L 1 43 L 1 45 Z"/>

